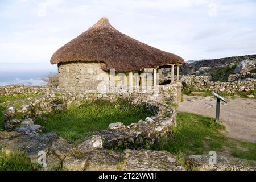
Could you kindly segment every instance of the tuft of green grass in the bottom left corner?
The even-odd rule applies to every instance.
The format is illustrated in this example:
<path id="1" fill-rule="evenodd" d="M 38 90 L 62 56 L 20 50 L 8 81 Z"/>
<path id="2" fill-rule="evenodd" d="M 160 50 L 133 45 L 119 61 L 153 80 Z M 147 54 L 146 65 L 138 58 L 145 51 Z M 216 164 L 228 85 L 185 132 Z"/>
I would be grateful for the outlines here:
<path id="1" fill-rule="evenodd" d="M 31 164 L 26 152 L 11 152 L 6 155 L 2 148 L 0 153 L 0 171 L 34 171 L 40 169 L 39 165 Z"/>

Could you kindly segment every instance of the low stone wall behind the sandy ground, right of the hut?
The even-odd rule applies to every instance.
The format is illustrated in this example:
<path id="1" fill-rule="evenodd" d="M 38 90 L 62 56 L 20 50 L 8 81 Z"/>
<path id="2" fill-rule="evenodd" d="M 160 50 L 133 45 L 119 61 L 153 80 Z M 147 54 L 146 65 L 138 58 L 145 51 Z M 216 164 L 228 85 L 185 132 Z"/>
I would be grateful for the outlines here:
<path id="1" fill-rule="evenodd" d="M 238 91 L 254 90 L 256 80 L 243 80 L 232 82 L 209 81 L 207 76 L 187 75 L 183 77 L 183 90 L 207 91 L 236 93 Z"/>

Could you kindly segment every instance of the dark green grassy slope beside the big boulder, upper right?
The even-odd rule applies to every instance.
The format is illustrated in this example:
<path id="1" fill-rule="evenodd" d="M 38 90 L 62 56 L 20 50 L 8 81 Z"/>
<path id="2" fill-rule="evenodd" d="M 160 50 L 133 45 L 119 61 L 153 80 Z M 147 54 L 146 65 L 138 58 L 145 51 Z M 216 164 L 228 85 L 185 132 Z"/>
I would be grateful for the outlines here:
<path id="1" fill-rule="evenodd" d="M 234 64 L 232 68 L 229 66 L 224 68 L 214 68 L 209 72 L 209 74 L 212 76 L 212 81 L 228 81 L 229 75 L 234 74 L 236 67 L 237 64 Z"/>

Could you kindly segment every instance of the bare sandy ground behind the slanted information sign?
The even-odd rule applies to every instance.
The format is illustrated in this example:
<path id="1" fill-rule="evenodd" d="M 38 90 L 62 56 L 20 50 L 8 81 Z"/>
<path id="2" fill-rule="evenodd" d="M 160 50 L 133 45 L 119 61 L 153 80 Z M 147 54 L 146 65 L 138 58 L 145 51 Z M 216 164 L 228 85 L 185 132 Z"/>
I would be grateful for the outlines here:
<path id="1" fill-rule="evenodd" d="M 226 126 L 225 134 L 246 142 L 256 143 L 256 100 L 236 98 L 221 102 L 220 119 Z M 178 111 L 207 115 L 215 118 L 216 99 L 212 97 L 184 96 Z"/>

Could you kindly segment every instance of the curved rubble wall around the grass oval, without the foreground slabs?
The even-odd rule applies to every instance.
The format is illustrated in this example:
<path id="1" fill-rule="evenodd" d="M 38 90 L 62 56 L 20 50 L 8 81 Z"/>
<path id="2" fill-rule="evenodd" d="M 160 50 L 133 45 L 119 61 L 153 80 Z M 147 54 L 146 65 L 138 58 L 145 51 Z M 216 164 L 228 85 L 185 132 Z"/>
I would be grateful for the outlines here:
<path id="1" fill-rule="evenodd" d="M 170 94 L 168 94 L 168 96 L 170 96 Z M 15 127 L 20 126 L 24 119 L 34 118 L 35 115 L 41 115 L 51 111 L 66 110 L 70 105 L 79 105 L 82 101 L 95 99 L 115 101 L 118 98 L 129 100 L 133 104 L 145 105 L 148 110 L 152 111 L 155 115 L 151 119 L 149 118 L 148 121 L 134 123 L 133 126 L 126 127 L 122 125 L 121 127 L 116 127 L 115 131 L 118 133 L 118 142 L 113 143 L 113 140 L 117 140 L 116 135 L 112 136 L 115 139 L 109 139 L 110 136 L 108 132 L 110 131 L 110 134 L 114 134 L 113 129 L 106 130 L 105 134 L 101 133 L 102 138 L 106 139 L 105 145 L 108 147 L 110 145 L 108 140 L 112 141 L 112 143 L 110 143 L 113 145 L 120 144 L 120 142 L 128 144 L 132 141 L 131 137 L 134 138 L 134 141 L 137 141 L 138 135 L 142 135 L 142 137 L 139 137 L 138 142 L 135 142 L 137 146 L 143 144 L 143 139 L 158 140 L 159 137 L 170 131 L 171 126 L 175 125 L 175 109 L 172 106 L 164 104 L 162 101 L 155 101 L 155 98 L 159 97 L 148 98 L 145 94 L 124 94 L 119 96 L 117 94 L 74 94 L 67 92 L 65 94 L 47 93 L 46 96 L 5 102 L 4 104 L 7 107 L 7 109 L 3 111 L 6 121 L 5 128 L 11 131 Z"/>

